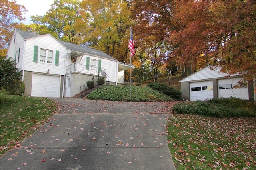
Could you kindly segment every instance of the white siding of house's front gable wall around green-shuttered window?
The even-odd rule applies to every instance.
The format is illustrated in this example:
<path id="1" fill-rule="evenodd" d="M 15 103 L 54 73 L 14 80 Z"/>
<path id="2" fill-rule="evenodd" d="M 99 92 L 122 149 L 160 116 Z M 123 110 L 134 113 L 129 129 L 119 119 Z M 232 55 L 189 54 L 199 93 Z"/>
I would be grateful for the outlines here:
<path id="1" fill-rule="evenodd" d="M 38 62 L 33 62 L 34 57 L 34 46 L 38 46 Z M 40 48 L 54 51 L 53 63 L 40 63 Z M 59 54 L 59 65 L 55 65 L 55 52 L 60 51 Z M 47 73 L 50 70 L 50 74 L 63 75 L 64 73 L 64 59 L 67 55 L 67 49 L 63 47 L 56 39 L 51 35 L 42 35 L 34 37 L 26 41 L 25 49 L 25 63 L 24 70 L 32 72 Z"/>

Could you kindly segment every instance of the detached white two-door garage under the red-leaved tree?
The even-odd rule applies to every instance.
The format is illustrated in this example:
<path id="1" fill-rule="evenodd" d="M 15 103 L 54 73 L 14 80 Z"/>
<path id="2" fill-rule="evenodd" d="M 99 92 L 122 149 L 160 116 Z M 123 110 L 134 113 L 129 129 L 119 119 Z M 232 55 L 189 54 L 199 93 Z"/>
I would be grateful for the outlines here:
<path id="1" fill-rule="evenodd" d="M 238 84 L 241 76 L 228 76 L 220 68 L 210 70 L 210 66 L 180 80 L 182 98 L 185 100 L 206 100 L 210 98 L 236 97 L 255 100 L 255 82 Z M 238 87 L 238 88 L 234 88 Z"/>

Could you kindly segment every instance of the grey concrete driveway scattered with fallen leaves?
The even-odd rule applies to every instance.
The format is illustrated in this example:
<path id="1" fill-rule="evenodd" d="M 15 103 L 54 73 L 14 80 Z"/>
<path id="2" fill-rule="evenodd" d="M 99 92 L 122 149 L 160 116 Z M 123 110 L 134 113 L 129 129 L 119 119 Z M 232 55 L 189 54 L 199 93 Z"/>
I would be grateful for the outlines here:
<path id="1" fill-rule="evenodd" d="M 21 149 L 3 156 L 1 170 L 175 170 L 165 133 L 167 115 L 148 114 L 168 104 L 52 100 L 59 103 L 60 114 L 24 140 Z"/>

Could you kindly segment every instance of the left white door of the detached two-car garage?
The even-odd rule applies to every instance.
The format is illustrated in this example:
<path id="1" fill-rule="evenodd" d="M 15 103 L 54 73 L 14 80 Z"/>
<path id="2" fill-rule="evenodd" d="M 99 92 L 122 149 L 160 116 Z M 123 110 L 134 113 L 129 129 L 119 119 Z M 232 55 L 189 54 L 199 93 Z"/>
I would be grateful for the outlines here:
<path id="1" fill-rule="evenodd" d="M 213 98 L 212 81 L 192 82 L 189 84 L 190 101 Z"/>

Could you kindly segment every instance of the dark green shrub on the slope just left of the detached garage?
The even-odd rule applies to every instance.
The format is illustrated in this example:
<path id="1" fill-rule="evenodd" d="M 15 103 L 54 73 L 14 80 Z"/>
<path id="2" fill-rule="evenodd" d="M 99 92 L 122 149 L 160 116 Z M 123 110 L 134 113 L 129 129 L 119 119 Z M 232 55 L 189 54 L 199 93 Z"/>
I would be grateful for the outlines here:
<path id="1" fill-rule="evenodd" d="M 148 84 L 148 87 L 157 90 L 159 92 L 162 92 L 171 98 L 180 99 L 181 98 L 181 92 L 179 90 L 174 89 L 173 87 L 168 87 L 166 84 L 159 84 L 159 83 L 150 83 Z"/>

